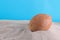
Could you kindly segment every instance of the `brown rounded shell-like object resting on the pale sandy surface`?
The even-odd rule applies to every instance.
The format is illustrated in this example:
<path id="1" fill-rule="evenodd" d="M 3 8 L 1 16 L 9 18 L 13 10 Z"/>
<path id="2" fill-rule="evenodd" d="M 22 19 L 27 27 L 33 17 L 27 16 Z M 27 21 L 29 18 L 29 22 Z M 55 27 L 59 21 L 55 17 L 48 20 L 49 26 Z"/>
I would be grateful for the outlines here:
<path id="1" fill-rule="evenodd" d="M 34 31 L 46 31 L 51 27 L 52 17 L 47 14 L 38 14 L 30 21 L 30 30 Z"/>

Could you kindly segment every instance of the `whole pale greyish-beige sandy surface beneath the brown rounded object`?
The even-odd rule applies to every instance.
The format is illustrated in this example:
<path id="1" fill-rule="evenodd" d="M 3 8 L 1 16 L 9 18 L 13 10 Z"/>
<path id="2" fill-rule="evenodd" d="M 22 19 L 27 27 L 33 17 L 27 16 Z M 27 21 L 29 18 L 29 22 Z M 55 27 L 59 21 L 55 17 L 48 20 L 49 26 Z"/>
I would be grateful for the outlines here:
<path id="1" fill-rule="evenodd" d="M 0 22 L 0 40 L 60 40 L 60 23 L 53 23 L 48 31 L 31 32 L 29 24 Z"/>

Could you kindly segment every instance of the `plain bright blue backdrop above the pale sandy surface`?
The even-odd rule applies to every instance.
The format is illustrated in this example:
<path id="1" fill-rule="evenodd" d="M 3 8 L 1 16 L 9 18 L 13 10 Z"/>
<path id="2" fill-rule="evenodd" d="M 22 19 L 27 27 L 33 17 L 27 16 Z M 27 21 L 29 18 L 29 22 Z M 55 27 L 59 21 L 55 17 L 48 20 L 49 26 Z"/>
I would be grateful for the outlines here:
<path id="1" fill-rule="evenodd" d="M 0 0 L 0 19 L 31 20 L 39 13 L 60 22 L 60 0 Z"/>

